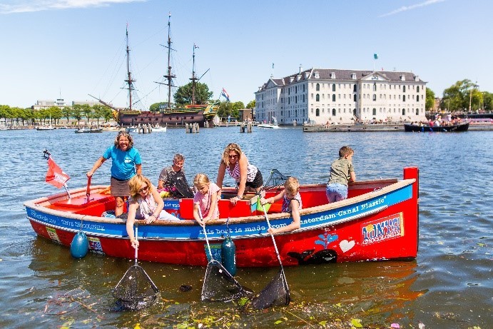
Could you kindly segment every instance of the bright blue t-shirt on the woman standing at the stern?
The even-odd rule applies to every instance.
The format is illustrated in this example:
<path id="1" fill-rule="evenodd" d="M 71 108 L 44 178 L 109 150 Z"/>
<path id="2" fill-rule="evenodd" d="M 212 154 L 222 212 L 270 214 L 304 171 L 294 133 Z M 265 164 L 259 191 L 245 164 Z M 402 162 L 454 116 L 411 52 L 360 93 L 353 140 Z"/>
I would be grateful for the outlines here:
<path id="1" fill-rule="evenodd" d="M 110 146 L 103 154 L 103 158 L 111 158 L 111 176 L 126 181 L 136 174 L 136 165 L 142 163 L 141 154 L 137 148 L 121 151 L 116 146 Z"/>

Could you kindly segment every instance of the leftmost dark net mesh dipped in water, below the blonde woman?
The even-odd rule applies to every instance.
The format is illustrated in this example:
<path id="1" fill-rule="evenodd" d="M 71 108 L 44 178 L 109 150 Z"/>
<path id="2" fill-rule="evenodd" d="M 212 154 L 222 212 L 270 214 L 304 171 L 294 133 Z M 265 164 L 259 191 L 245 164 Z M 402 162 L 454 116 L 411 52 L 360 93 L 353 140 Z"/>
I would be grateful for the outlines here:
<path id="1" fill-rule="evenodd" d="M 141 266 L 133 265 L 113 289 L 113 297 L 126 310 L 141 310 L 158 300 L 159 290 Z"/>

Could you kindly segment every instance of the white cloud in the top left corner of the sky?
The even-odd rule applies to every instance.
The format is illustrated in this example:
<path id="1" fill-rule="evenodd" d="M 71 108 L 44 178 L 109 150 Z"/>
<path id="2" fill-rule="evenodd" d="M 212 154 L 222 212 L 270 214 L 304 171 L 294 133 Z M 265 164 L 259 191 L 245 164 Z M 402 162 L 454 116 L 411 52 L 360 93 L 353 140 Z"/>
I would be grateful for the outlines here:
<path id="1" fill-rule="evenodd" d="M 71 8 L 90 8 L 147 0 L 0 0 L 0 14 Z"/>

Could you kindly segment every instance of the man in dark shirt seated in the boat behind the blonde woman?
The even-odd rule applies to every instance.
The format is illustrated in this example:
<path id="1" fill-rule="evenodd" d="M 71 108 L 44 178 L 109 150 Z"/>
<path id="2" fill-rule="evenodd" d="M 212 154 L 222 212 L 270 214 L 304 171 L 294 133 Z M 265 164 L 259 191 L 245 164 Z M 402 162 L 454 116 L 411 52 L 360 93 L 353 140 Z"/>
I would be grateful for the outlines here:
<path id="1" fill-rule="evenodd" d="M 193 198 L 193 192 L 188 186 L 187 178 L 185 177 L 185 156 L 176 153 L 173 157 L 173 164 L 163 168 L 158 178 L 158 190 L 168 190 L 177 198 Z"/>

